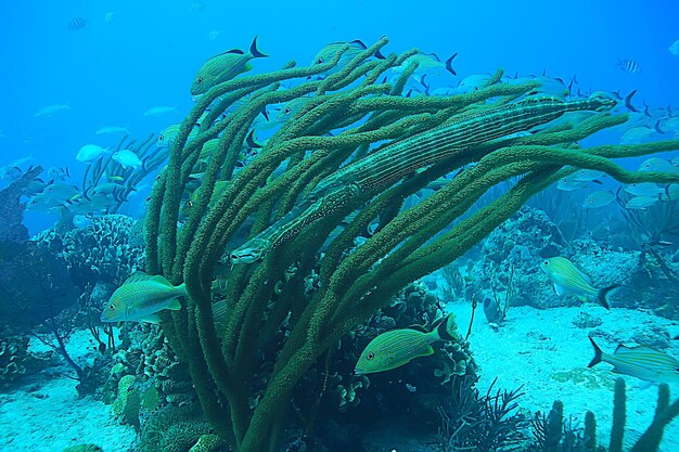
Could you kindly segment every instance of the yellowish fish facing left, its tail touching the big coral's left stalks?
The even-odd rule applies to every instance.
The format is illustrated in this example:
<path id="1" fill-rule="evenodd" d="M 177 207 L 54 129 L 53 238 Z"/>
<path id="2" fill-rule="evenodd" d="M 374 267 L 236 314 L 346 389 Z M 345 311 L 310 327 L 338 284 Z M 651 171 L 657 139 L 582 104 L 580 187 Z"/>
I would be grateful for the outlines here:
<path id="1" fill-rule="evenodd" d="M 164 309 L 181 309 L 178 298 L 185 296 L 184 284 L 174 286 L 161 275 L 137 272 L 113 293 L 101 321 L 158 323 L 157 313 Z"/>

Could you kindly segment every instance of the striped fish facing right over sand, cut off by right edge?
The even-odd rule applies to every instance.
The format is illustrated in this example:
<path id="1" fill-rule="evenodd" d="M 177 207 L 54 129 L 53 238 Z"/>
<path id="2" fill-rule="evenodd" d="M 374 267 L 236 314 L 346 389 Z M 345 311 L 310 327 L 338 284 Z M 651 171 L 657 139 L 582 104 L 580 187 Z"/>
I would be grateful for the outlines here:
<path id="1" fill-rule="evenodd" d="M 679 361 L 648 346 L 617 346 L 613 354 L 604 353 L 591 337 L 594 358 L 588 367 L 600 362 L 615 366 L 613 372 L 653 383 L 679 383 Z"/>

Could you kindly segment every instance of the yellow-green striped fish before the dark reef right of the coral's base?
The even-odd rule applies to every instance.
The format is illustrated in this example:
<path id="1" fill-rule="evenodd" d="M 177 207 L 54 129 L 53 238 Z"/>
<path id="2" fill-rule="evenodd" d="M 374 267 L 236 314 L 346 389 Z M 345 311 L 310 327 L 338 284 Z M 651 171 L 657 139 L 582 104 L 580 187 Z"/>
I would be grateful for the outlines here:
<path id="1" fill-rule="evenodd" d="M 432 344 L 437 340 L 460 340 L 456 332 L 454 315 L 446 315 L 434 330 L 408 327 L 382 333 L 368 344 L 354 372 L 356 375 L 390 371 L 415 358 L 434 353 Z"/>

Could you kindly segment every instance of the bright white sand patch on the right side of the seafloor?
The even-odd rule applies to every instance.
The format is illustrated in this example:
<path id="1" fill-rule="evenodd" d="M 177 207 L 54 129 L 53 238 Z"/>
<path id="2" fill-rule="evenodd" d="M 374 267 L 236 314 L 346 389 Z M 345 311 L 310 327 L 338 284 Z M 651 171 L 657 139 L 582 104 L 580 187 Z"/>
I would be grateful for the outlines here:
<path id="1" fill-rule="evenodd" d="M 460 330 L 466 332 L 471 306 L 449 305 L 458 317 Z M 601 318 L 603 323 L 595 328 L 578 328 L 572 321 L 579 312 L 587 312 Z M 679 333 L 677 322 L 657 318 L 651 313 L 627 309 L 605 309 L 586 305 L 582 308 L 554 308 L 536 310 L 529 307 L 510 308 L 507 322 L 494 331 L 486 321 L 483 309 L 476 310 L 476 319 L 470 337 L 474 358 L 481 366 L 478 388 L 485 392 L 494 378 L 498 377 L 497 387 L 515 389 L 521 385 L 525 395 L 518 399 L 521 406 L 530 411 L 549 412 L 554 400 L 564 403 L 566 416 L 573 415 L 582 425 L 586 411 L 597 416 L 597 436 L 599 442 L 607 445 L 612 416 L 613 390 L 607 387 L 590 389 L 585 383 L 567 380 L 560 383 L 552 378 L 555 372 L 568 372 L 581 367 L 584 377 L 598 382 L 613 383 L 618 374 L 611 373 L 611 365 L 601 363 L 586 369 L 593 358 L 593 349 L 588 339 L 592 330 L 612 334 L 616 337 L 629 337 L 630 330 L 643 331 L 651 324 L 666 327 L 674 336 Z M 599 337 L 597 344 L 604 352 L 612 353 L 616 343 Z M 674 340 L 665 351 L 679 358 L 679 340 Z M 642 389 L 643 382 L 625 377 L 627 384 L 627 437 L 636 437 L 633 430 L 645 431 L 653 418 L 657 401 L 657 386 Z M 608 383 L 608 385 L 610 385 Z M 679 398 L 679 384 L 670 384 L 670 400 Z M 663 437 L 664 451 L 679 450 L 679 419 L 675 419 Z"/>

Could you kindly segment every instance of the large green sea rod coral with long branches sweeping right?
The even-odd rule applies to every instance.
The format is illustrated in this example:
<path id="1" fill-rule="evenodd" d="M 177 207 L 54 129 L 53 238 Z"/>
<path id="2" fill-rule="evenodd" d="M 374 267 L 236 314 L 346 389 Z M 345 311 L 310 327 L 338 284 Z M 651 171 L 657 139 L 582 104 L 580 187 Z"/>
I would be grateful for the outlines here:
<path id="1" fill-rule="evenodd" d="M 348 47 L 312 67 L 293 62 L 210 88 L 181 124 L 151 195 L 146 270 L 185 283 L 190 295 L 180 311 L 162 314 L 162 327 L 189 366 L 206 418 L 234 451 L 278 451 L 291 393 L 319 357 L 560 178 L 589 168 L 625 183 L 679 181 L 612 160 L 676 150 L 679 140 L 573 145 L 627 120 L 608 113 L 611 99 L 526 96 L 536 82 L 502 83 L 501 72 L 466 94 L 410 98 L 402 92 L 417 50 L 375 59 L 386 43 L 342 67 Z M 384 78 L 400 65 L 397 78 Z M 303 96 L 307 102 L 239 167 L 262 109 Z M 599 114 L 549 126 L 571 111 Z M 217 142 L 195 188 L 192 175 L 209 140 Z M 459 172 L 445 188 L 401 209 L 451 171 Z M 511 189 L 469 211 L 505 181 Z M 191 209 L 180 216 L 189 196 Z M 371 223 L 374 233 L 366 234 Z M 218 273 L 228 259 L 239 264 Z"/>

